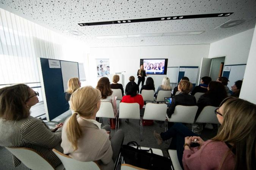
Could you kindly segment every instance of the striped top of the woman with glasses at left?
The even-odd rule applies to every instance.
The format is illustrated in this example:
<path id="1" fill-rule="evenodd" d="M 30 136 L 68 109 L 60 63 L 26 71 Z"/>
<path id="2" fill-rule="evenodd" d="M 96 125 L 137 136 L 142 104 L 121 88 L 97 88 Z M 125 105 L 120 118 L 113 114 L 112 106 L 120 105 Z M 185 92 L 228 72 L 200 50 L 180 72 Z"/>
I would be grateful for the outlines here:
<path id="1" fill-rule="evenodd" d="M 52 149 L 55 148 L 63 153 L 60 146 L 61 129 L 52 132 L 44 121 L 32 116 L 19 121 L 0 119 L 0 146 L 31 148 L 40 153 L 53 167 L 57 167 L 61 161 Z M 14 155 L 13 163 L 14 167 L 20 164 L 20 160 Z"/>

